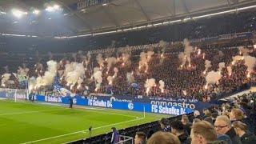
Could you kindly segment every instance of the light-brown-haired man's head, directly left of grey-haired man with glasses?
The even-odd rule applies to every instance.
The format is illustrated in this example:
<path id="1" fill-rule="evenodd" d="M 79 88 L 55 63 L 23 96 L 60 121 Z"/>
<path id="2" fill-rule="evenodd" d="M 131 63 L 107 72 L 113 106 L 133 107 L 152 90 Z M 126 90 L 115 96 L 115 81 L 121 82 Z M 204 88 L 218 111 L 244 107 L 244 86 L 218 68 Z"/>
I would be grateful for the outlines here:
<path id="1" fill-rule="evenodd" d="M 206 144 L 214 142 L 217 139 L 217 134 L 213 125 L 209 122 L 201 121 L 193 124 L 190 138 L 191 144 Z"/>

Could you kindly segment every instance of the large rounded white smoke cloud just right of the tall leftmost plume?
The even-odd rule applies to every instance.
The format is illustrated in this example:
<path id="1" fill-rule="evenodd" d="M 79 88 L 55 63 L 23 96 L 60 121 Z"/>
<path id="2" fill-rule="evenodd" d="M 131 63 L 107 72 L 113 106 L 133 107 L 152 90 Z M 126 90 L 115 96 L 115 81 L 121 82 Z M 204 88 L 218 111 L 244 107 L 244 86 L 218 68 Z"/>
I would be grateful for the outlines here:
<path id="1" fill-rule="evenodd" d="M 85 68 L 82 63 L 74 63 L 74 70 L 66 74 L 66 82 L 68 85 L 74 86 L 79 78 L 83 78 L 85 74 Z"/>

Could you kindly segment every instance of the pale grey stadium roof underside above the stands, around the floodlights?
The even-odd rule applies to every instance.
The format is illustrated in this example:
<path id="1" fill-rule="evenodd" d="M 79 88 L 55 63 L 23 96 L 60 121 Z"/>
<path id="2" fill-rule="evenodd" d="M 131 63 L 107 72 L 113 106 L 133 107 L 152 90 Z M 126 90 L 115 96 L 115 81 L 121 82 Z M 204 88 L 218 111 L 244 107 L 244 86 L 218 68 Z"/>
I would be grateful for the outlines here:
<path id="1" fill-rule="evenodd" d="M 0 0 L 0 11 L 45 10 L 54 4 L 62 6 L 62 13 L 25 22 L 2 18 L 0 33 L 56 36 L 119 30 L 252 6 L 256 0 Z"/>

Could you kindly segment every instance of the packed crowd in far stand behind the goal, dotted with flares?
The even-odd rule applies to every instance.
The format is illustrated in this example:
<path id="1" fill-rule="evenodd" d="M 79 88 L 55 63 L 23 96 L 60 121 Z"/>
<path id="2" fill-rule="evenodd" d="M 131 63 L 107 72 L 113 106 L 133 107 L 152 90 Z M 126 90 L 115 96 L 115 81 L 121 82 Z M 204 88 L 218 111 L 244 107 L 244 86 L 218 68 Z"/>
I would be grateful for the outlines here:
<path id="1" fill-rule="evenodd" d="M 82 86 L 78 88 L 78 85 L 66 86 L 66 81 L 61 80 L 61 85 L 67 89 L 74 91 L 76 93 L 82 93 L 86 86 L 89 86 L 88 92 L 90 93 L 112 93 L 116 95 L 149 95 L 149 96 L 162 96 L 168 98 L 197 98 L 203 101 L 210 101 L 217 98 L 222 94 L 230 94 L 232 92 L 241 90 L 246 86 L 249 86 L 251 82 L 255 81 L 254 73 L 250 74 L 250 78 L 247 75 L 247 66 L 245 66 L 244 61 L 235 62 L 232 64 L 232 57 L 236 55 L 243 55 L 238 48 L 204 48 L 201 53 L 198 50 L 191 53 L 191 64 L 188 63 L 181 67 L 181 61 L 178 59 L 178 53 L 166 53 L 166 54 L 153 54 L 150 62 L 148 62 L 149 69 L 146 71 L 145 68 L 138 68 L 139 56 L 130 55 L 130 60 L 123 65 L 122 56 L 118 57 L 120 60 L 110 67 L 108 71 L 106 65 L 107 62 L 104 61 L 104 66 L 102 66 L 102 86 L 100 89 L 95 91 L 95 82 L 93 75 L 93 68 L 100 67 L 96 60 L 96 55 L 93 55 L 90 64 L 86 67 L 86 73 L 83 77 Z M 256 52 L 253 46 L 248 48 L 253 50 L 250 53 L 251 56 L 256 56 Z M 158 52 L 156 52 L 158 53 Z M 221 54 L 220 54 L 221 53 Z M 109 55 L 110 58 L 111 55 Z M 114 54 L 113 54 L 114 56 Z M 106 57 L 107 58 L 107 57 Z M 103 58 L 105 60 L 105 58 Z M 82 62 L 82 57 L 77 56 L 77 58 L 69 59 L 75 62 Z M 217 71 L 218 64 L 220 62 L 225 62 L 225 68 L 222 70 L 222 78 L 219 80 L 219 84 L 209 85 L 206 89 L 206 74 L 205 61 L 209 60 L 211 62 L 211 67 L 206 71 L 206 74 L 211 70 Z M 58 59 L 60 66 L 58 70 L 65 70 L 66 63 L 69 61 L 66 58 Z M 38 65 L 38 64 L 36 64 Z M 30 65 L 28 67 L 30 71 L 28 75 L 30 77 L 38 77 L 38 75 L 44 74 L 46 71 L 46 66 L 42 66 L 42 70 L 38 70 L 37 66 Z M 84 66 L 86 64 L 84 63 Z M 232 67 L 232 73 L 229 74 L 226 67 Z M 114 67 L 118 68 L 118 75 L 113 79 L 111 86 L 107 81 L 108 76 L 114 75 Z M 108 71 L 108 73 L 107 73 Z M 15 72 L 15 71 L 14 71 Z M 126 74 L 131 72 L 134 76 L 134 83 L 137 86 L 131 86 L 131 83 L 127 82 Z M 58 77 L 60 78 L 60 74 Z M 14 78 L 14 76 L 12 76 Z M 146 93 L 146 88 L 144 87 L 146 79 L 154 78 L 155 86 L 153 86 L 149 93 Z M 15 78 L 14 78 L 15 79 Z M 159 81 L 165 82 L 164 90 L 159 89 Z M 16 84 L 16 85 L 15 85 Z M 18 82 L 10 85 L 10 88 L 18 86 Z M 111 87 L 110 92 L 109 88 Z M 41 86 L 37 90 L 51 90 L 51 86 Z"/>

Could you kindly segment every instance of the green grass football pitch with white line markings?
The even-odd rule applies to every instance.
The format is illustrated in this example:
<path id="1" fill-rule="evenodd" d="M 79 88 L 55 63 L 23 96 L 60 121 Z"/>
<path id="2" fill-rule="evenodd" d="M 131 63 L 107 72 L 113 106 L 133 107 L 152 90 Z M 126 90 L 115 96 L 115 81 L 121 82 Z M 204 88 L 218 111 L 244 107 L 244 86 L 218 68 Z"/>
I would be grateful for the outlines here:
<path id="1" fill-rule="evenodd" d="M 0 143 L 63 143 L 92 135 L 136 126 L 141 123 L 167 118 L 170 115 L 128 110 L 67 106 L 50 106 L 30 102 L 0 100 Z"/>

